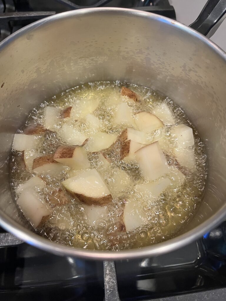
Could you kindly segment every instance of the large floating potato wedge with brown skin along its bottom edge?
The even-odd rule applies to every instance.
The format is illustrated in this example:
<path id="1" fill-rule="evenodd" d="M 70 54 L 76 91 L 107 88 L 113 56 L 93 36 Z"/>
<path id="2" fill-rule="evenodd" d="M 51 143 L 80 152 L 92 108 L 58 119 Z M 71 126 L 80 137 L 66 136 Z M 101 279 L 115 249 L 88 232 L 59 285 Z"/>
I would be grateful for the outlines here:
<path id="1" fill-rule="evenodd" d="M 105 205 L 112 200 L 111 193 L 96 169 L 89 169 L 62 182 L 64 188 L 87 205 Z"/>

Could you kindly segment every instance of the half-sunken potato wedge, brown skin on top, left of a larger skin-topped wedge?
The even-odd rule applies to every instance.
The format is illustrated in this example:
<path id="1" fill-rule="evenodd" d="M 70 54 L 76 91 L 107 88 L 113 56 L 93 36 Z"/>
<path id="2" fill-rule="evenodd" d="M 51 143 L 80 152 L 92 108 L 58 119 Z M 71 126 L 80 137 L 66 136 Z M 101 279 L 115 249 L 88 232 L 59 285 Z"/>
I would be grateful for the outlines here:
<path id="1" fill-rule="evenodd" d="M 33 161 L 33 171 L 46 173 L 48 175 L 59 175 L 65 166 L 57 163 L 53 159 L 53 154 L 35 158 Z"/>

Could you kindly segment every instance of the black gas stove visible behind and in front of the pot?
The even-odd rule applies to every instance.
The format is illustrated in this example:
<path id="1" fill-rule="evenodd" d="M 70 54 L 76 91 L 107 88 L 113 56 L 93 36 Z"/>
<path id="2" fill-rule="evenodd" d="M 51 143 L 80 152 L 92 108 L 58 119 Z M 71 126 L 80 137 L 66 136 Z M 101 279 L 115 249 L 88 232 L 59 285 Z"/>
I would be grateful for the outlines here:
<path id="1" fill-rule="evenodd" d="M 0 41 L 41 18 L 99 6 L 135 8 L 176 19 L 168 0 L 0 0 Z M 174 252 L 104 264 L 55 256 L 0 230 L 1 301 L 222 301 L 225 297 L 226 222 Z"/>

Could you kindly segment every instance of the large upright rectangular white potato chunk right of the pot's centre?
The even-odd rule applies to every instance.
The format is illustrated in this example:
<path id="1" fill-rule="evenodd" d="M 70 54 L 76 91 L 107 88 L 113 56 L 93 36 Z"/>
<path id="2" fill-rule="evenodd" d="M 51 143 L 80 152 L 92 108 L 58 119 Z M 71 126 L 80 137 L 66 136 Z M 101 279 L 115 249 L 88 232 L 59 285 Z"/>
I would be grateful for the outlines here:
<path id="1" fill-rule="evenodd" d="M 158 141 L 140 148 L 136 151 L 135 157 L 143 176 L 151 181 L 169 171 L 169 166 Z"/>

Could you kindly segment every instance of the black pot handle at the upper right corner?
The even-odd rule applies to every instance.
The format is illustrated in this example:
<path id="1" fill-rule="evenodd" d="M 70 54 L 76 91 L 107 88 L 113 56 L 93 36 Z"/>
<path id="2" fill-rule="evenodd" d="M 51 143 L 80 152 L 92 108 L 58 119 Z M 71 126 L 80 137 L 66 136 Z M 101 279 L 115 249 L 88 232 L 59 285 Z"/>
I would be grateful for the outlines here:
<path id="1" fill-rule="evenodd" d="M 226 0 L 208 0 L 191 28 L 210 38 L 226 17 Z"/>

